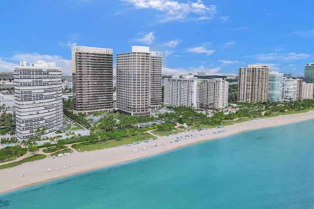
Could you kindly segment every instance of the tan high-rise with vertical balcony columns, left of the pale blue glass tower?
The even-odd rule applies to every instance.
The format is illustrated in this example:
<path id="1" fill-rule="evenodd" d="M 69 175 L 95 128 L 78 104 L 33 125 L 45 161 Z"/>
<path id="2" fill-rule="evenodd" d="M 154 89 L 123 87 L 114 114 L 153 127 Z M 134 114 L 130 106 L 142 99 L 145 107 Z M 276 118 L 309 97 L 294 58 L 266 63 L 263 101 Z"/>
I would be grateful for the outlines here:
<path id="1" fill-rule="evenodd" d="M 268 92 L 268 66 L 248 65 L 238 69 L 238 102 L 266 102 Z"/>

